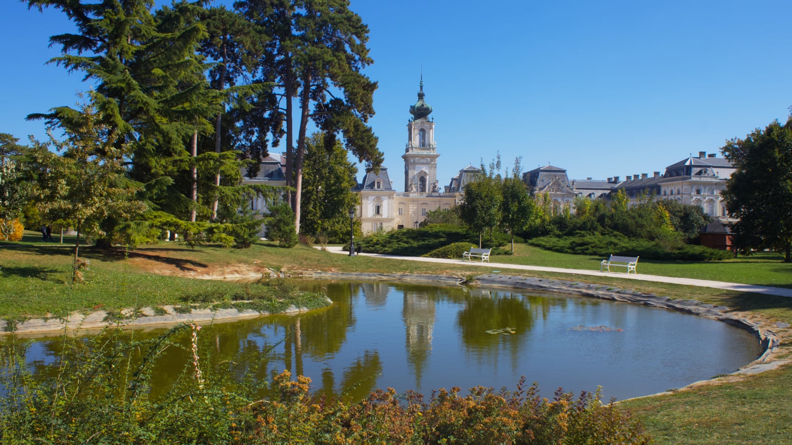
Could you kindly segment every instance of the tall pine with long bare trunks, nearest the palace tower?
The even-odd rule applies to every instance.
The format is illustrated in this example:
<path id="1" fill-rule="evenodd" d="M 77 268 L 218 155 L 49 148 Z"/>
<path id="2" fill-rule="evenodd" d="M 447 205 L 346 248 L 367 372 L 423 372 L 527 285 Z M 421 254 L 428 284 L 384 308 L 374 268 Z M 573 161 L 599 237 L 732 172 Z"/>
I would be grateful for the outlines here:
<path id="1" fill-rule="evenodd" d="M 280 105 L 273 112 L 286 124 L 286 181 L 294 188 L 289 201 L 299 231 L 310 121 L 324 132 L 325 146 L 334 146 L 340 132 L 345 148 L 361 162 L 375 169 L 383 162 L 366 124 L 374 115 L 376 89 L 376 82 L 361 73 L 372 63 L 368 29 L 346 0 L 240 0 L 235 6 L 271 37 L 262 67 L 272 69 L 270 78 L 280 91 Z"/>

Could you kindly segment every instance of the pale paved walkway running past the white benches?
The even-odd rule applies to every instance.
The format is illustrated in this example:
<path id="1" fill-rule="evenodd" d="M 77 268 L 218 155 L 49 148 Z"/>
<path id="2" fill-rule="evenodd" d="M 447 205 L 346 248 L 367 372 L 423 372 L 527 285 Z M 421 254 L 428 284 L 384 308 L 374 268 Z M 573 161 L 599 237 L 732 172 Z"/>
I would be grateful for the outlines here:
<path id="1" fill-rule="evenodd" d="M 332 253 L 343 253 L 348 255 L 348 252 L 341 250 L 341 247 L 328 247 L 327 250 Z M 738 292 L 754 292 L 756 294 L 764 295 L 779 295 L 782 297 L 792 298 L 792 289 L 784 287 L 771 287 L 771 286 L 758 286 L 754 284 L 741 284 L 741 283 L 726 283 L 725 281 L 713 280 L 696 280 L 694 278 L 677 278 L 674 276 L 658 276 L 658 275 L 645 275 L 642 273 L 630 274 L 619 272 L 600 272 L 598 270 L 588 269 L 568 269 L 568 268 L 546 268 L 544 266 L 529 266 L 524 264 L 506 264 L 506 263 L 477 263 L 475 261 L 464 260 L 448 260 L 444 258 L 425 258 L 425 257 L 398 257 L 396 255 L 381 255 L 379 253 L 358 253 L 365 257 L 386 258 L 388 260 L 406 260 L 406 261 L 423 261 L 425 263 L 441 263 L 441 264 L 455 264 L 466 266 L 478 266 L 488 268 L 488 272 L 493 272 L 500 269 L 517 269 L 517 270 L 530 270 L 538 272 L 560 272 L 560 273 L 574 273 L 577 275 L 590 275 L 590 276 L 606 276 L 610 278 L 620 278 L 625 280 L 639 280 L 639 281 L 654 281 L 656 283 L 672 283 L 672 284 L 685 284 L 687 286 L 698 287 L 712 287 L 714 289 L 725 289 L 726 291 Z"/>

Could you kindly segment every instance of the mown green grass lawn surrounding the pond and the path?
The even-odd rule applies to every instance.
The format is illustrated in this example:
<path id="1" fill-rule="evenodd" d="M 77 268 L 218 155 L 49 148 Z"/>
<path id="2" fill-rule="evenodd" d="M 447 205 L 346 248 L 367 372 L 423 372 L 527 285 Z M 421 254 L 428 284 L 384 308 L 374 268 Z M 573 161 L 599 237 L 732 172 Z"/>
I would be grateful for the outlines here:
<path id="1" fill-rule="evenodd" d="M 73 238 L 67 238 L 73 242 Z M 23 242 L 0 242 L 0 318 L 26 318 L 43 314 L 65 314 L 72 310 L 101 307 L 113 310 L 153 304 L 179 303 L 202 294 L 222 298 L 249 291 L 249 285 L 223 281 L 194 280 L 188 276 L 234 272 L 285 273 L 301 271 L 408 272 L 466 276 L 491 272 L 488 265 L 432 264 L 392 261 L 373 257 L 347 257 L 298 245 L 281 249 L 259 242 L 251 249 L 223 249 L 163 243 L 103 251 L 81 248 L 91 261 L 86 283 L 70 287 L 73 247 L 42 243 L 35 232 Z M 599 270 L 600 257 L 546 252 L 516 245 L 515 255 L 493 257 L 494 262 L 533 264 Z M 641 273 L 685 276 L 738 283 L 792 287 L 792 264 L 781 257 L 761 254 L 733 261 L 693 263 L 640 261 Z M 153 273 L 155 272 L 155 273 Z M 605 277 L 564 273 L 502 271 L 524 276 L 598 283 L 635 291 L 669 295 L 675 299 L 697 299 L 729 306 L 749 318 L 792 324 L 792 299 L 722 291 L 676 284 L 623 280 L 619 274 Z M 772 325 L 771 325 L 772 326 Z M 776 329 L 788 338 L 790 329 Z M 782 343 L 786 348 L 786 343 Z M 649 428 L 657 443 L 792 443 L 792 367 L 782 367 L 741 382 L 703 386 L 660 397 L 626 401 Z"/>

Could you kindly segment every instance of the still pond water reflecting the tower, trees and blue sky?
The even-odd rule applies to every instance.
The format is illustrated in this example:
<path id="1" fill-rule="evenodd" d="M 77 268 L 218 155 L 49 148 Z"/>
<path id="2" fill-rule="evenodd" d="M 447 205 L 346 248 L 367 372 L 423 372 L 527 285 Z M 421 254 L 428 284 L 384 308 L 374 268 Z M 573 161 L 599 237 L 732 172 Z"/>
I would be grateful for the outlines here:
<path id="1" fill-rule="evenodd" d="M 265 360 L 260 378 L 287 369 L 309 376 L 314 390 L 331 396 L 362 398 L 386 387 L 426 395 L 451 386 L 514 389 L 524 375 L 546 395 L 558 387 L 577 394 L 602 386 L 608 400 L 736 371 L 762 352 L 742 329 L 623 302 L 403 283 L 297 283 L 325 289 L 333 306 L 204 326 L 202 357 L 216 363 L 253 353 Z M 501 332 L 513 333 L 492 333 L 505 328 L 511 331 Z M 29 363 L 47 372 L 63 341 L 36 339 Z M 154 386 L 173 382 L 185 362 L 187 351 L 169 352 L 157 365 Z"/>

